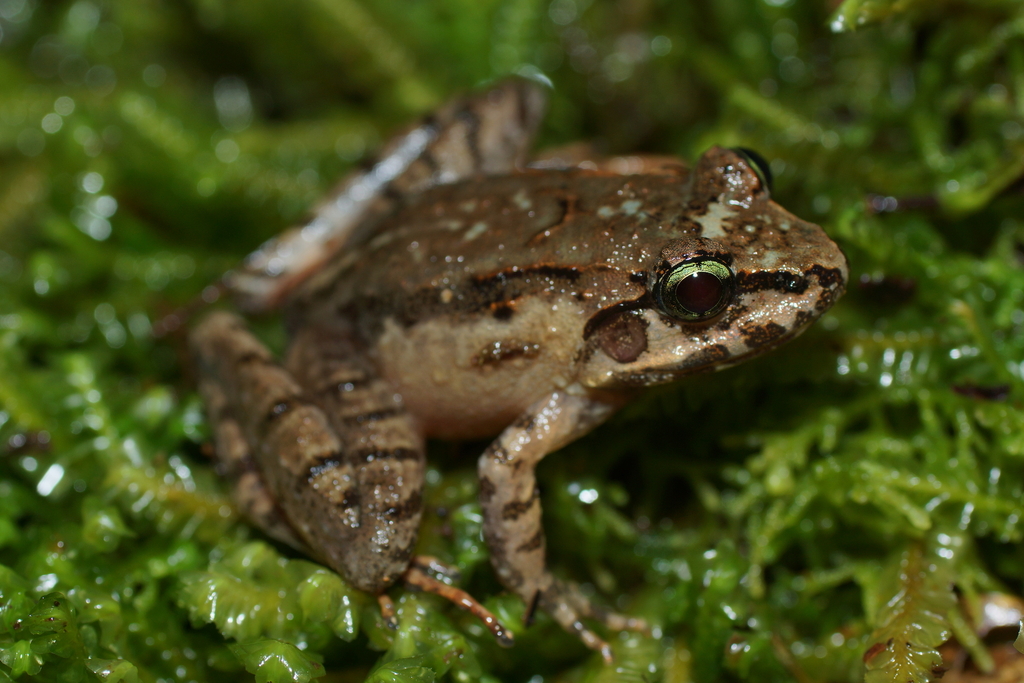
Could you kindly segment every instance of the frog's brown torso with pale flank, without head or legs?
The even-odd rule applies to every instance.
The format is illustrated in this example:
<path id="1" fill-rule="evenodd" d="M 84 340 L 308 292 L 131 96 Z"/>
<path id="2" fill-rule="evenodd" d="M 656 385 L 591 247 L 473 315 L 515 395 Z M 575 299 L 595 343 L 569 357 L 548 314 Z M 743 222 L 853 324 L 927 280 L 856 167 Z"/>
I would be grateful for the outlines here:
<path id="1" fill-rule="evenodd" d="M 574 382 L 588 319 L 643 295 L 648 233 L 685 231 L 686 182 L 548 170 L 432 188 L 312 278 L 299 319 L 350 321 L 429 433 L 492 434 Z"/>

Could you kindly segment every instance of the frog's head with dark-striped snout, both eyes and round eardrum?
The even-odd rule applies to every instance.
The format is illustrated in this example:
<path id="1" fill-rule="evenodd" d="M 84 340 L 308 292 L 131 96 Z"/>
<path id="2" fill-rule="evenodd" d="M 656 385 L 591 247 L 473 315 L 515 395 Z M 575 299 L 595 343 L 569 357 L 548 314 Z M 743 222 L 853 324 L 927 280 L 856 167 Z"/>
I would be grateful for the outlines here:
<path id="1" fill-rule="evenodd" d="M 843 293 L 846 257 L 770 198 L 760 158 L 713 147 L 642 273 L 644 293 L 596 314 L 590 386 L 649 385 L 719 370 L 794 338 Z"/>

